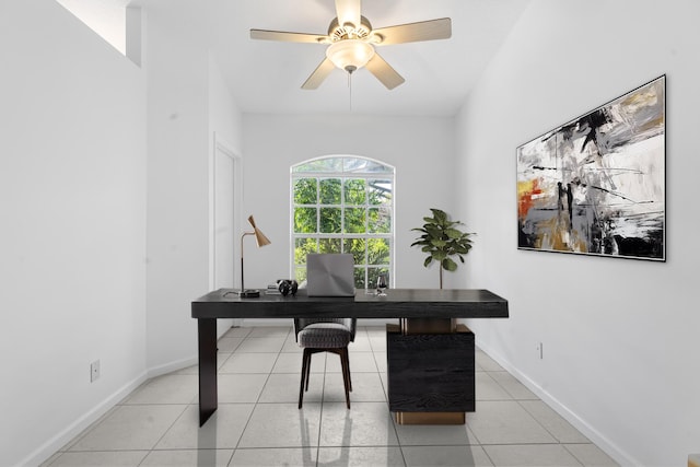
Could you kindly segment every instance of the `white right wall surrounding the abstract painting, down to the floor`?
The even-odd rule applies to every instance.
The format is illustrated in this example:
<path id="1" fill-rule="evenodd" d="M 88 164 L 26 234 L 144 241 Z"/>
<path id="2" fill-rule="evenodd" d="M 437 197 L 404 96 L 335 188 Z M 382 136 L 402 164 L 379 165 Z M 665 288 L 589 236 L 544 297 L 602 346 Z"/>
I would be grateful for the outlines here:
<path id="1" fill-rule="evenodd" d="M 477 341 L 623 465 L 700 451 L 698 17 L 695 0 L 534 1 L 457 121 L 465 284 L 511 313 L 472 320 Z M 515 148 L 664 73 L 667 261 L 517 250 Z"/>

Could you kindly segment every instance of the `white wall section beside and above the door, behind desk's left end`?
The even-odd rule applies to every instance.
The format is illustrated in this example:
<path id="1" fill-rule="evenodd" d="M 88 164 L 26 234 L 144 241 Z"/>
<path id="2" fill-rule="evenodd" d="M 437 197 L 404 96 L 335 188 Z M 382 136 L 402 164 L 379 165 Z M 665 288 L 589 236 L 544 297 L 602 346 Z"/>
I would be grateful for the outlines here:
<path id="1" fill-rule="evenodd" d="M 176 5 L 174 3 L 177 3 Z M 221 83 L 196 2 L 147 7 L 148 317 L 147 364 L 158 374 L 194 363 L 190 302 L 209 292 L 209 183 L 213 133 L 241 147 L 241 116 Z"/>

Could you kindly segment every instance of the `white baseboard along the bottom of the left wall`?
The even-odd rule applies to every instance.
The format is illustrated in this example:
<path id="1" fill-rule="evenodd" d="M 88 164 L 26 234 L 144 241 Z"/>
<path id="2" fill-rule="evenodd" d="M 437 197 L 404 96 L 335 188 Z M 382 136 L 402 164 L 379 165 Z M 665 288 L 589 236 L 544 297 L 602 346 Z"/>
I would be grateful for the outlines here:
<path id="1" fill-rule="evenodd" d="M 61 447 L 66 446 L 70 441 L 83 432 L 88 427 L 100 420 L 105 413 L 116 406 L 121 399 L 131 394 L 137 387 L 148 381 L 148 373 L 143 372 L 129 383 L 121 386 L 114 394 L 108 396 L 102 402 L 97 404 L 86 413 L 78 418 L 73 423 L 68 425 L 65 430 L 56 434 L 48 440 L 36 451 L 25 457 L 18 464 L 20 466 L 38 466 L 46 462 L 51 455 L 57 453 Z"/>

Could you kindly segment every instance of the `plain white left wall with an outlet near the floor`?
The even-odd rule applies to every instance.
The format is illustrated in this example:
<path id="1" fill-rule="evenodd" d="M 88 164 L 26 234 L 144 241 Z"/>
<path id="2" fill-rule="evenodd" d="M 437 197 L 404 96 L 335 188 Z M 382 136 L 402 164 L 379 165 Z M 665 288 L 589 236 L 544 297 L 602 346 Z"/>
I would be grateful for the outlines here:
<path id="1" fill-rule="evenodd" d="M 11 466 L 38 464 L 144 377 L 145 85 L 52 1 L 0 2 L 0 465 Z"/>

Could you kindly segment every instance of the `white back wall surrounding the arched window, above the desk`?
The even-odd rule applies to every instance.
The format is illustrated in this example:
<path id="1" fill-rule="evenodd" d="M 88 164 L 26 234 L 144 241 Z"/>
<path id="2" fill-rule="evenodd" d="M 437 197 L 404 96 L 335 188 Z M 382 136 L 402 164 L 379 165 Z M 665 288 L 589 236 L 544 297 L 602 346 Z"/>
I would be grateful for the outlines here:
<path id="1" fill-rule="evenodd" d="M 246 287 L 290 277 L 290 166 L 329 154 L 376 159 L 396 167 L 396 273 L 394 287 L 436 288 L 438 270 L 423 268 L 410 248 L 430 208 L 447 211 L 452 196 L 454 120 L 369 116 L 244 115 L 244 213 L 272 242 L 246 243 Z"/>

